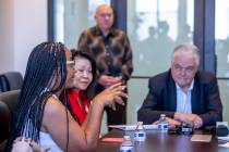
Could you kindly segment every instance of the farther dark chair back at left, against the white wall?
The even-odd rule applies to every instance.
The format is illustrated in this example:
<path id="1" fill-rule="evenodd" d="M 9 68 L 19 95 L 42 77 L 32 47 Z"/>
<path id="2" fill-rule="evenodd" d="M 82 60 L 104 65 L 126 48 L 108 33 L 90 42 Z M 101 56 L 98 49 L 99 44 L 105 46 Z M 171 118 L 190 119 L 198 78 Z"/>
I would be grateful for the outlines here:
<path id="1" fill-rule="evenodd" d="M 20 72 L 8 72 L 0 75 L 0 92 L 21 89 L 23 77 Z"/>

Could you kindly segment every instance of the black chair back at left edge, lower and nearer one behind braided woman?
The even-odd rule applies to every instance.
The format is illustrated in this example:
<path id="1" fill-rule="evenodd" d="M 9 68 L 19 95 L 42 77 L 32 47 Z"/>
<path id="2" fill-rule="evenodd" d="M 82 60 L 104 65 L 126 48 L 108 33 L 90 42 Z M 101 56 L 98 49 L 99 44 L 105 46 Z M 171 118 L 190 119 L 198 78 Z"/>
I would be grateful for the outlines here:
<path id="1" fill-rule="evenodd" d="M 20 90 L 0 92 L 0 143 L 8 139 L 12 115 L 16 109 Z"/>

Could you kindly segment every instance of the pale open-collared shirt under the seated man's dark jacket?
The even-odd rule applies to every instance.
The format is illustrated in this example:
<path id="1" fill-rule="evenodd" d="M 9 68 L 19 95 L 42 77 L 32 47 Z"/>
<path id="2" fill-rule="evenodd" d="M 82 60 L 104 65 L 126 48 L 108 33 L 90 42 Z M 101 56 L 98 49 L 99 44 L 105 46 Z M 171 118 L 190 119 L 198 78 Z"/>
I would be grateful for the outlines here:
<path id="1" fill-rule="evenodd" d="M 177 88 L 177 112 L 192 113 L 191 96 L 192 96 L 193 85 L 194 85 L 194 79 L 192 80 L 188 91 L 184 92 L 181 89 L 181 87 L 179 87 L 178 84 L 176 84 L 176 88 Z"/>

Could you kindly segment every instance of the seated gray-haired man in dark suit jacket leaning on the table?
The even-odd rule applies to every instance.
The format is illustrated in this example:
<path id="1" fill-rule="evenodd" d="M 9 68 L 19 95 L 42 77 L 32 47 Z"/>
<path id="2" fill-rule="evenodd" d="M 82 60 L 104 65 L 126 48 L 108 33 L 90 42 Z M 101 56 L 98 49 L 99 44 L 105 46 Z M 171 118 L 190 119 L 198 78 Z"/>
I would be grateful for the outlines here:
<path id="1" fill-rule="evenodd" d="M 209 72 L 198 71 L 198 65 L 197 47 L 178 46 L 172 53 L 171 68 L 149 79 L 149 91 L 137 119 L 157 124 L 160 114 L 166 114 L 170 126 L 186 123 L 194 128 L 222 121 L 217 79 Z"/>

